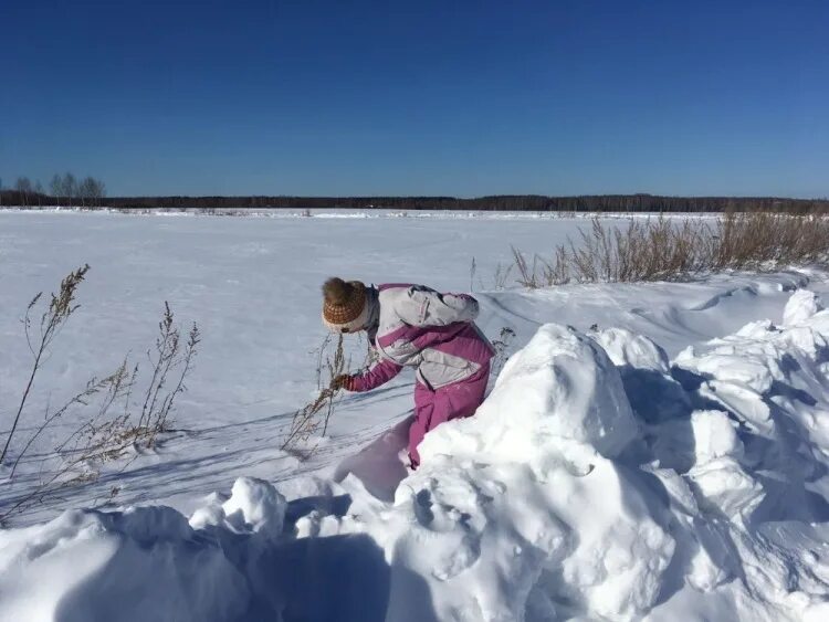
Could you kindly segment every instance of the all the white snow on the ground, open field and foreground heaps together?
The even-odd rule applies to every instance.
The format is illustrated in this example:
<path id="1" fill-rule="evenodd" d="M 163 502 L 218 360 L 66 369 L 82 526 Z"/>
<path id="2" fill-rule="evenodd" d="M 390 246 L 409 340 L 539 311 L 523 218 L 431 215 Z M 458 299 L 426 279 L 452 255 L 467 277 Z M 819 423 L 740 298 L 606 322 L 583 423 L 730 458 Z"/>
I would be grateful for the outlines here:
<path id="1" fill-rule="evenodd" d="M 827 274 L 494 289 L 511 245 L 586 224 L 0 212 L 0 430 L 27 304 L 78 265 L 24 433 L 146 351 L 164 301 L 203 335 L 176 432 L 0 530 L 0 620 L 829 619 Z M 472 289 L 483 331 L 515 333 L 414 474 L 410 373 L 344 398 L 313 452 L 279 449 L 335 274 Z M 0 508 L 43 477 L 36 455 L 0 473 Z"/>

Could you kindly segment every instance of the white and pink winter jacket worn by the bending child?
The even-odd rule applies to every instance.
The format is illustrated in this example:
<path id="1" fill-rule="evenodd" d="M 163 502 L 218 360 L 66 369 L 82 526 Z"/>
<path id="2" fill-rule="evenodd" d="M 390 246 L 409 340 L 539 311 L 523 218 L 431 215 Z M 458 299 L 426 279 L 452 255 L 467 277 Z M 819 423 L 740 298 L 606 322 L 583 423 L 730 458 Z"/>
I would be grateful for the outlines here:
<path id="1" fill-rule="evenodd" d="M 388 382 L 403 367 L 436 390 L 474 376 L 494 355 L 475 326 L 478 301 L 468 294 L 440 294 L 423 285 L 387 284 L 368 288 L 369 339 L 380 361 L 354 379 L 355 391 Z"/>

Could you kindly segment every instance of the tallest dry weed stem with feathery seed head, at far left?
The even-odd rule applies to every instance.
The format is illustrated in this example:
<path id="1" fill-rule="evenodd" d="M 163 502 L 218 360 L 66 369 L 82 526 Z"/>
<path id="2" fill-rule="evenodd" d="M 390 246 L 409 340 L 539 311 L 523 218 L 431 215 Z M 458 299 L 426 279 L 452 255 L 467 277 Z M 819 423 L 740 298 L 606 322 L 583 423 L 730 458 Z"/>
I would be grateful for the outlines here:
<path id="1" fill-rule="evenodd" d="M 34 296 L 34 298 L 32 298 L 32 301 L 29 303 L 29 307 L 27 308 L 27 312 L 25 312 L 25 318 L 23 319 L 23 326 L 25 329 L 25 337 L 29 344 L 29 349 L 34 355 L 34 362 L 32 365 L 32 371 L 29 375 L 29 381 L 27 382 L 25 390 L 23 391 L 23 397 L 20 399 L 20 404 L 18 405 L 18 412 L 14 415 L 14 421 L 12 422 L 11 430 L 9 430 L 9 436 L 6 439 L 6 444 L 3 445 L 2 453 L 0 453 L 0 464 L 3 463 L 3 461 L 6 460 L 6 455 L 9 452 L 11 440 L 14 436 L 14 432 L 18 429 L 18 423 L 20 422 L 20 415 L 23 413 L 23 408 L 25 407 L 25 402 L 29 399 L 29 393 L 32 390 L 32 384 L 34 384 L 34 378 L 38 375 L 38 371 L 40 370 L 41 361 L 43 359 L 43 354 L 46 351 L 46 348 L 49 348 L 49 346 L 51 345 L 55 335 L 60 331 L 60 328 L 64 325 L 64 323 L 69 319 L 69 317 L 77 309 L 77 305 L 74 304 L 75 293 L 77 291 L 78 285 L 86 276 L 86 273 L 88 272 L 88 270 L 90 270 L 90 265 L 84 264 L 83 266 L 78 267 L 76 271 L 71 272 L 61 282 L 61 289 L 60 289 L 59 295 L 55 296 L 54 294 L 52 294 L 52 299 L 49 304 L 49 309 L 41 317 L 40 342 L 36 349 L 32 346 L 31 336 L 30 336 L 31 312 L 32 312 L 32 308 L 40 301 L 42 296 L 42 292 L 38 294 L 36 296 Z"/>

